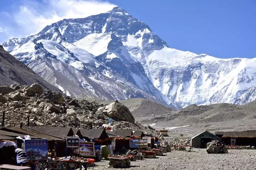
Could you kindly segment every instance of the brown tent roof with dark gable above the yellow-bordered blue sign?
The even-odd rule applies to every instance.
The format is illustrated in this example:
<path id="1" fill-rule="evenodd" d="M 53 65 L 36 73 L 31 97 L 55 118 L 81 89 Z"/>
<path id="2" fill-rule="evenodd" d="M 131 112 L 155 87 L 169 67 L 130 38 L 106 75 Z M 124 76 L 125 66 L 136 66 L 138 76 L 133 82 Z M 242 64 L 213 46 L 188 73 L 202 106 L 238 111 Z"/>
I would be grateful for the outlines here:
<path id="1" fill-rule="evenodd" d="M 106 133 L 105 129 L 83 129 L 80 128 L 80 133 L 82 137 L 89 138 L 89 139 L 105 139 L 108 138 L 108 134 Z"/>

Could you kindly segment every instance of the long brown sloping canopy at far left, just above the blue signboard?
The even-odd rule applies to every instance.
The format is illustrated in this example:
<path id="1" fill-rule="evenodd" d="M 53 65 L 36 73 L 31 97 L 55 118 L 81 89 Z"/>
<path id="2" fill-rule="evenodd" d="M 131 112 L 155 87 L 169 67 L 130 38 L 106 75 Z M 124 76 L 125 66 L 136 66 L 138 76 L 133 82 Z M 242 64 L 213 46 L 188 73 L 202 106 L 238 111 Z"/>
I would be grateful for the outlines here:
<path id="1" fill-rule="evenodd" d="M 0 130 L 6 131 L 6 132 L 17 133 L 19 135 L 21 134 L 22 136 L 20 136 L 20 137 L 23 137 L 24 135 L 29 135 L 30 137 L 32 136 L 32 138 L 48 139 L 48 141 L 59 141 L 59 142 L 65 141 L 61 138 L 56 138 L 56 137 L 50 136 L 48 134 L 40 133 L 40 132 L 30 130 L 30 129 L 19 128 L 19 127 L 3 127 Z"/>

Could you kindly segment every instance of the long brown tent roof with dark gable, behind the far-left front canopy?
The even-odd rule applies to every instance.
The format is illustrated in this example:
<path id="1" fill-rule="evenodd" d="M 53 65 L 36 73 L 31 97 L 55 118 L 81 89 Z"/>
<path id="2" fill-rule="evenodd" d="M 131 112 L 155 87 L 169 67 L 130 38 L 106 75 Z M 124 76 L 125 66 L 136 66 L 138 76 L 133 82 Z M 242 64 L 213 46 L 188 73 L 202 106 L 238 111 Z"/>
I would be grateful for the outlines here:
<path id="1" fill-rule="evenodd" d="M 70 127 L 53 127 L 53 126 L 23 126 L 22 128 L 34 130 L 40 133 L 48 134 L 57 138 L 65 139 L 67 136 L 74 136 L 74 132 Z"/>

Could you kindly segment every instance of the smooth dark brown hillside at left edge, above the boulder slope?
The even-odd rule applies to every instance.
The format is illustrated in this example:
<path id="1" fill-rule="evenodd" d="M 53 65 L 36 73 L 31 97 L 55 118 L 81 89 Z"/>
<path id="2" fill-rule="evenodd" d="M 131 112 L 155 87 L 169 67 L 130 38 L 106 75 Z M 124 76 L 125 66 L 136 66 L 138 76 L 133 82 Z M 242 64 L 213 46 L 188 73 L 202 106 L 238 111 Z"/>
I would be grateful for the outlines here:
<path id="1" fill-rule="evenodd" d="M 48 90 L 60 92 L 58 88 L 46 82 L 23 62 L 6 52 L 0 45 L 0 86 L 11 84 L 31 85 L 33 83 L 38 83 Z"/>

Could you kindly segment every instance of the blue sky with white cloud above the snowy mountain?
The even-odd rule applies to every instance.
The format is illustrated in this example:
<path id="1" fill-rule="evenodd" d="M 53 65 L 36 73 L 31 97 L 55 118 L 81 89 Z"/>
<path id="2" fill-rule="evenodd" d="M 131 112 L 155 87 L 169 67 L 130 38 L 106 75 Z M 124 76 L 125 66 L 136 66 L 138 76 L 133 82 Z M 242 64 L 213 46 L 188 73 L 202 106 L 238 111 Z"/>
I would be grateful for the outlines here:
<path id="1" fill-rule="evenodd" d="M 148 24 L 171 48 L 218 58 L 256 57 L 256 0 L 72 0 L 74 7 L 61 1 L 1 0 L 0 42 L 36 33 L 58 19 L 118 5 Z"/>

